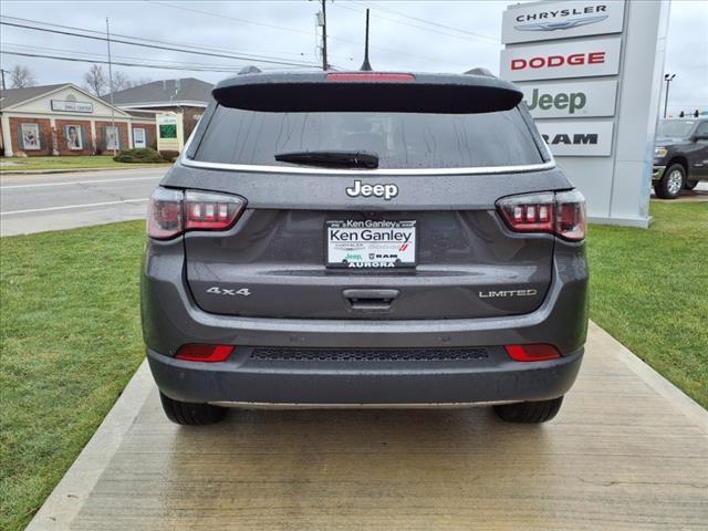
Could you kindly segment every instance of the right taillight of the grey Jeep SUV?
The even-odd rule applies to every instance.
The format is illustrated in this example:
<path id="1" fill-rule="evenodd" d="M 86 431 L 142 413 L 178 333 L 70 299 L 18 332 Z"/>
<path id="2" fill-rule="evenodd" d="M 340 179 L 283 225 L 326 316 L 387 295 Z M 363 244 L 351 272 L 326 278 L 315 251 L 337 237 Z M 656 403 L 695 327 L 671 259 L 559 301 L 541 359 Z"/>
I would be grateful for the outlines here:
<path id="1" fill-rule="evenodd" d="M 585 238 L 585 198 L 577 190 L 506 197 L 497 208 L 517 232 L 551 232 L 570 241 Z"/>

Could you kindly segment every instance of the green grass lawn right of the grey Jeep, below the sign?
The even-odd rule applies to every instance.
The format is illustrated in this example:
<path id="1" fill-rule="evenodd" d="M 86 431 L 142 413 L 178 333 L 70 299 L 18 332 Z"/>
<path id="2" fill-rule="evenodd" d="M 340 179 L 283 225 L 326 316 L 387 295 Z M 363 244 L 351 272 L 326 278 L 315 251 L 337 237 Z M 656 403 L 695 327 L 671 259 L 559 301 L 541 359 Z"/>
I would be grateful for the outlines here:
<path id="1" fill-rule="evenodd" d="M 708 202 L 652 202 L 649 230 L 591 226 L 590 315 L 708 408 Z"/>

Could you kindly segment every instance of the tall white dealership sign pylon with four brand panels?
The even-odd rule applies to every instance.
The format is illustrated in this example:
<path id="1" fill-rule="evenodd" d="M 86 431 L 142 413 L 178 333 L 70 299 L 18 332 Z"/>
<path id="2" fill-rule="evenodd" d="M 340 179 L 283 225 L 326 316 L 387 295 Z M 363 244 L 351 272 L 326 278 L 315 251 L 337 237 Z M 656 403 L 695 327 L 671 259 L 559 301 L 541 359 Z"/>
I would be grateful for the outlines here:
<path id="1" fill-rule="evenodd" d="M 503 13 L 500 77 L 522 88 L 591 221 L 648 227 L 668 11 L 668 0 L 565 0 Z"/>

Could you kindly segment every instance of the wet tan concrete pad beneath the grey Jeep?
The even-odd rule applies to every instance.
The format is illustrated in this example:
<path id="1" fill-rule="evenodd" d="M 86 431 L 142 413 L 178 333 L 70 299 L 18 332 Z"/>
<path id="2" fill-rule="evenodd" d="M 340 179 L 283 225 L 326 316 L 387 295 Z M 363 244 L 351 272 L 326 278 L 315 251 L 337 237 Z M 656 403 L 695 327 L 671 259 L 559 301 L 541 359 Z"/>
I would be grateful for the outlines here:
<path id="1" fill-rule="evenodd" d="M 592 324 L 553 421 L 488 408 L 235 410 L 169 424 L 143 365 L 38 530 L 693 530 L 708 413 Z"/>

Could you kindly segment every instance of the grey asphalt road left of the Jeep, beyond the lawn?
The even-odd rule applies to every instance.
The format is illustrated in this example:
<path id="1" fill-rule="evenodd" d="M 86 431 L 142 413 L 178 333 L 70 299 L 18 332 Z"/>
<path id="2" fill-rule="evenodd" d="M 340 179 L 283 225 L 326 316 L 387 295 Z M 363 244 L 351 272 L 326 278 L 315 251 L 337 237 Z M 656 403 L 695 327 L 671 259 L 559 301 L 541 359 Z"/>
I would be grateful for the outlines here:
<path id="1" fill-rule="evenodd" d="M 166 168 L 0 176 L 0 236 L 145 218 Z"/>

